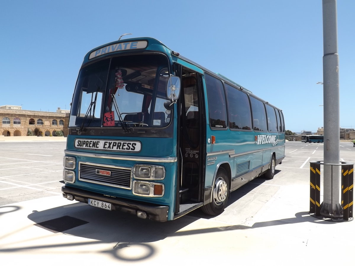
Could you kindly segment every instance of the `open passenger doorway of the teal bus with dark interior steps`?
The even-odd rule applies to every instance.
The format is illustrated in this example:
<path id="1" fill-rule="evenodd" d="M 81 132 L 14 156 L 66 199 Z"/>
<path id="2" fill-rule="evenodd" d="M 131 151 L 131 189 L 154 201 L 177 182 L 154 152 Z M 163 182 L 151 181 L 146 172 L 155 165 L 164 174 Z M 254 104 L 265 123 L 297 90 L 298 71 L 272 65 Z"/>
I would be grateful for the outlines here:
<path id="1" fill-rule="evenodd" d="M 204 135 L 206 125 L 201 105 L 201 76 L 183 68 L 181 78 L 179 211 L 201 203 L 203 180 Z M 177 207 L 178 204 L 176 204 Z"/>

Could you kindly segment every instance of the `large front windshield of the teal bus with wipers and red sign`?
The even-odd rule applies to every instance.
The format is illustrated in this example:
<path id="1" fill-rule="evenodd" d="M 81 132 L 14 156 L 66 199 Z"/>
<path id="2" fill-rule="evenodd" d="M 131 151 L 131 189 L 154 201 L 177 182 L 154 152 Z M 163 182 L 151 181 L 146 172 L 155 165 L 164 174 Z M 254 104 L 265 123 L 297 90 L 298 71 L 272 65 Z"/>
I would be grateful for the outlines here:
<path id="1" fill-rule="evenodd" d="M 69 127 L 165 127 L 168 60 L 162 55 L 130 55 L 94 62 L 81 69 Z"/>

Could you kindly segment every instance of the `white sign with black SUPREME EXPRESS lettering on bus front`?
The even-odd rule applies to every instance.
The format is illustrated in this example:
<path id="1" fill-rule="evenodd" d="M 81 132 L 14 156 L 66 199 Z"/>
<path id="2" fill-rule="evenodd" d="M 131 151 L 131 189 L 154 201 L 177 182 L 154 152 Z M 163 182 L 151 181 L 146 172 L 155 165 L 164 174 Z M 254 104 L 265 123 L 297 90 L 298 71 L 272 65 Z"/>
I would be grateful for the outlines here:
<path id="1" fill-rule="evenodd" d="M 142 149 L 139 141 L 107 139 L 75 139 L 75 148 L 90 150 L 127 151 L 138 153 Z"/>

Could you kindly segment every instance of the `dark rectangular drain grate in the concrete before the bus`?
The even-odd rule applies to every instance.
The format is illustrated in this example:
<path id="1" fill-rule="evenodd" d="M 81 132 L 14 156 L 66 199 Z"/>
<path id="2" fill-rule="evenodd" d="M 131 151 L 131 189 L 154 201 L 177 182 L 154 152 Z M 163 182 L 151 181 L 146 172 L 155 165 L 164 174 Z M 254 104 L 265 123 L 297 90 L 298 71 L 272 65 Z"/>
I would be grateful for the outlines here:
<path id="1" fill-rule="evenodd" d="M 88 222 L 71 216 L 63 216 L 45 222 L 36 223 L 35 226 L 41 227 L 53 233 L 60 233 L 77 226 L 85 225 L 86 223 Z"/>

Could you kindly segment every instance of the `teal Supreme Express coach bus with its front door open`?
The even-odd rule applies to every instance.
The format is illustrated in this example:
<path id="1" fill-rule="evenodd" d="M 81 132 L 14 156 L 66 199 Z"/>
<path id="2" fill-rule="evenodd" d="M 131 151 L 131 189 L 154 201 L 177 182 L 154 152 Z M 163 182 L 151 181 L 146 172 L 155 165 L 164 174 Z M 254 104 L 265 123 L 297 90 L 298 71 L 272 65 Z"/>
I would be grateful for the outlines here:
<path id="1" fill-rule="evenodd" d="M 156 39 L 118 40 L 84 57 L 62 193 L 154 221 L 215 216 L 284 157 L 280 109 Z"/>

